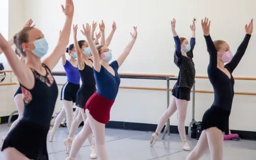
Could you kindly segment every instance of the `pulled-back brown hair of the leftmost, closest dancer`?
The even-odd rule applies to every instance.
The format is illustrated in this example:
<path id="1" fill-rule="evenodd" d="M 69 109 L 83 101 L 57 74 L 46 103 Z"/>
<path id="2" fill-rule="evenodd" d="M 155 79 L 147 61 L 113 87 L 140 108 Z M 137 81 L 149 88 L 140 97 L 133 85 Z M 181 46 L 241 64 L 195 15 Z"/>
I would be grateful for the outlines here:
<path id="1" fill-rule="evenodd" d="M 26 56 L 26 53 L 24 52 L 22 48 L 23 43 L 28 43 L 29 42 L 29 35 L 28 32 L 33 29 L 33 27 L 24 27 L 21 31 L 15 34 L 13 37 L 13 43 L 17 47 L 17 51 L 21 53 L 24 57 Z"/>

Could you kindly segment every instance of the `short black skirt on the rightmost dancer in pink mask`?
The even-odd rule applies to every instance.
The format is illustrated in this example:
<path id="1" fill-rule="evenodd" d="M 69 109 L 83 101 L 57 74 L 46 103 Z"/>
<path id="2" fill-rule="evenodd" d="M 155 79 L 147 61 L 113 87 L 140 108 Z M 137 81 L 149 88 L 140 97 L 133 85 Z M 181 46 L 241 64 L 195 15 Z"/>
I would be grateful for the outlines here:
<path id="1" fill-rule="evenodd" d="M 201 124 L 201 130 L 211 127 L 217 127 L 225 134 L 229 133 L 229 115 L 230 110 L 224 110 L 221 107 L 212 106 L 204 112 Z"/>

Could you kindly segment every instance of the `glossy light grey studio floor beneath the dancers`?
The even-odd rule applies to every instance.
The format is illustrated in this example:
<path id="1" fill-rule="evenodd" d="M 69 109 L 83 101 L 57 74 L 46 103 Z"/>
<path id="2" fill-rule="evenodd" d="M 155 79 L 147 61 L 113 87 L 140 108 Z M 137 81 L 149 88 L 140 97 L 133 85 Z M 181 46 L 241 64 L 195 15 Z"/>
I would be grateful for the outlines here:
<path id="1" fill-rule="evenodd" d="M 5 135 L 9 127 L 0 125 L 0 137 Z M 80 131 L 79 128 L 78 131 Z M 109 160 L 186 160 L 189 152 L 182 150 L 178 134 L 166 136 L 154 147 L 149 146 L 151 138 L 149 132 L 106 129 L 106 147 Z M 66 128 L 60 128 L 55 134 L 53 142 L 47 142 L 50 160 L 65 160 L 65 146 L 63 139 L 67 137 Z M 197 140 L 189 141 L 191 147 Z M 0 160 L 3 156 L 0 153 Z M 76 160 L 90 160 L 88 141 L 84 143 Z M 207 152 L 200 160 L 210 160 Z M 225 141 L 224 160 L 256 160 L 256 141 Z"/>

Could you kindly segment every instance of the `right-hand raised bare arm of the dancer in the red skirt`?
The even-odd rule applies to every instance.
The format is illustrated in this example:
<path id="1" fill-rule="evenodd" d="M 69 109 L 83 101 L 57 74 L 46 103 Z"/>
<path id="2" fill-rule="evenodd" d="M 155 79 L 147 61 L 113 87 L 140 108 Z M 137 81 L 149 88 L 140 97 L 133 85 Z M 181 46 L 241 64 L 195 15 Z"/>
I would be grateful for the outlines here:
<path id="1" fill-rule="evenodd" d="M 127 45 L 127 47 L 125 48 L 125 50 L 123 51 L 123 53 L 118 57 L 117 62 L 118 62 L 118 66 L 121 67 L 121 65 L 123 64 L 123 62 L 125 61 L 126 57 L 128 56 L 128 54 L 130 53 L 130 50 L 132 49 L 136 39 L 137 39 L 137 27 L 133 27 L 134 29 L 134 33 L 130 33 L 131 35 L 131 41 L 129 42 L 129 44 Z"/>

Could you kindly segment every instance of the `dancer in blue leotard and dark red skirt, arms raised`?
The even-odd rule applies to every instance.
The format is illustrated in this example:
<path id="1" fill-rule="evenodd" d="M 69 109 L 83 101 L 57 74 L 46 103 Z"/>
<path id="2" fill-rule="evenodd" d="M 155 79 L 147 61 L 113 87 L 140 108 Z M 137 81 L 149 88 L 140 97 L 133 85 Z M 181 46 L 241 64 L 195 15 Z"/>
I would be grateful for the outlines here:
<path id="1" fill-rule="evenodd" d="M 94 58 L 93 67 L 97 90 L 86 103 L 85 112 L 87 119 L 81 133 L 85 138 L 93 133 L 99 160 L 108 160 L 105 147 L 105 124 L 109 121 L 110 109 L 119 89 L 120 77 L 118 75 L 118 68 L 123 64 L 136 41 L 137 28 L 134 27 L 134 33 L 131 34 L 132 40 L 122 55 L 109 64 L 112 58 L 111 50 L 103 45 L 96 48 L 91 38 L 89 24 L 83 27 L 84 30 L 82 32 L 88 40 Z M 79 138 L 75 137 L 74 142 L 79 140 Z M 67 160 L 74 160 L 74 158 L 70 155 Z"/>

